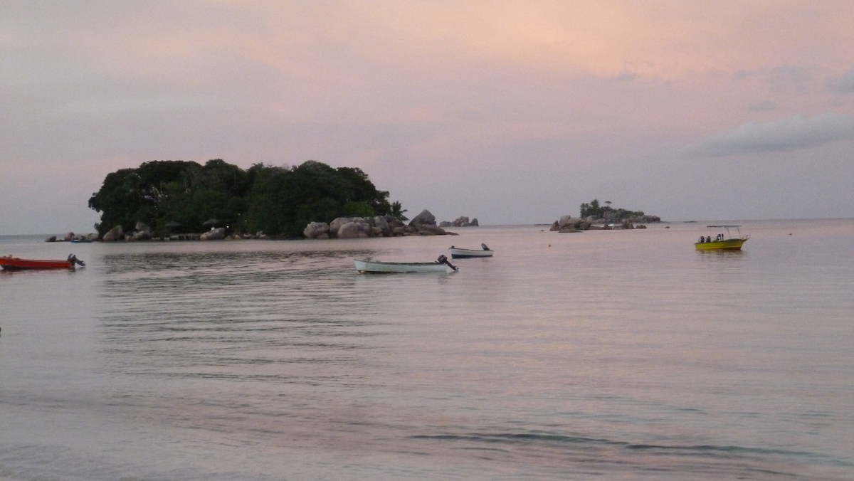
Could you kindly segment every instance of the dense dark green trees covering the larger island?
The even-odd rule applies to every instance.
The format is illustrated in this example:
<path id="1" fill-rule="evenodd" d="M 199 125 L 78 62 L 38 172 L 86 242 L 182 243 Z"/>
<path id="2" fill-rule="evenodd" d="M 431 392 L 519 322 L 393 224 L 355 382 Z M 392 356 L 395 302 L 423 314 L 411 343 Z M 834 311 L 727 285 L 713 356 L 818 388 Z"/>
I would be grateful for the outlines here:
<path id="1" fill-rule="evenodd" d="M 318 161 L 248 170 L 220 159 L 150 161 L 109 173 L 89 207 L 101 213 L 101 235 L 114 226 L 132 231 L 137 221 L 158 235 L 202 232 L 214 220 L 232 232 L 298 236 L 313 221 L 406 212 L 388 197 L 359 168 Z"/>

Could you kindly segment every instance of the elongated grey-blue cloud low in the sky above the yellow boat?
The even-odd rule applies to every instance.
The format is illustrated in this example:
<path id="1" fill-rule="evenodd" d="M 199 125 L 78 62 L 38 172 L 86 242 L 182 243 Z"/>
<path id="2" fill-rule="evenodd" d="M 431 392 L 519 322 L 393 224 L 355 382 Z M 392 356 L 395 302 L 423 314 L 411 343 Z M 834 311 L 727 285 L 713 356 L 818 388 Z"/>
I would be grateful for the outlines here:
<path id="1" fill-rule="evenodd" d="M 854 139 L 854 117 L 851 115 L 828 112 L 812 119 L 795 115 L 765 124 L 741 124 L 731 131 L 706 138 L 682 155 L 702 158 L 779 152 L 851 139 Z"/>

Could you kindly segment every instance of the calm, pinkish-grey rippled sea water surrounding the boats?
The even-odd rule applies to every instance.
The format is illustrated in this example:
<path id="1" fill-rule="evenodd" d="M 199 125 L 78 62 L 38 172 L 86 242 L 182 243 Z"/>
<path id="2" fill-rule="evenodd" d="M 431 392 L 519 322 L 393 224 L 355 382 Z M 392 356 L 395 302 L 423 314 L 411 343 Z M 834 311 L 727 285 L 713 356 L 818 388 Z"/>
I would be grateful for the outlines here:
<path id="1" fill-rule="evenodd" d="M 0 479 L 852 479 L 854 220 L 741 224 L 0 238 L 87 262 L 0 273 Z"/>

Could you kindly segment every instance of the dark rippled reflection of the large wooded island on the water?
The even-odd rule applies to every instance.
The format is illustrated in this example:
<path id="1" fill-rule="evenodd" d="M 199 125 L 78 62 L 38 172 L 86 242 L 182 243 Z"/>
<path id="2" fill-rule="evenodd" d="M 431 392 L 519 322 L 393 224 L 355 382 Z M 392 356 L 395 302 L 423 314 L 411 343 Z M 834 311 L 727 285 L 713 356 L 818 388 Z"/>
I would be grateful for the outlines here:
<path id="1" fill-rule="evenodd" d="M 290 378 L 292 363 L 350 366 L 365 348 L 360 339 L 372 335 L 366 327 L 376 321 L 347 315 L 364 311 L 369 301 L 348 289 L 352 269 L 336 262 L 349 255 L 107 255 L 104 341 L 121 354 L 111 366 L 150 376 L 243 380 Z"/>

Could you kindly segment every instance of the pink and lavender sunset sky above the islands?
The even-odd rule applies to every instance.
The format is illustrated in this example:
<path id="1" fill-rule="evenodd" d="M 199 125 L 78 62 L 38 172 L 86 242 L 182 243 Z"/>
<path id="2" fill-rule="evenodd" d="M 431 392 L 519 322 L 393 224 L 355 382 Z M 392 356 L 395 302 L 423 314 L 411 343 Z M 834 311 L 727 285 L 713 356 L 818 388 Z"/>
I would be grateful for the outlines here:
<path id="1" fill-rule="evenodd" d="M 145 161 L 360 167 L 411 214 L 851 217 L 854 2 L 0 3 L 0 235 Z"/>

